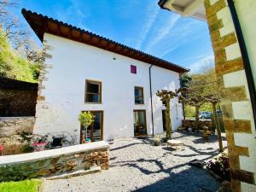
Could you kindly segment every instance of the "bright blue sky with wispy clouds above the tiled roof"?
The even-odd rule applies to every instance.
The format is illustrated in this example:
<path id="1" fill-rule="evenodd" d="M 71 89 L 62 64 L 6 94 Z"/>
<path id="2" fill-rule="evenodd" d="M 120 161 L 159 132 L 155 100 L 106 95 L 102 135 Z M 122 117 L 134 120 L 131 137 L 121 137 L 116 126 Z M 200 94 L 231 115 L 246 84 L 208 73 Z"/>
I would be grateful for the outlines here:
<path id="1" fill-rule="evenodd" d="M 201 63 L 213 58 L 207 22 L 183 18 L 160 9 L 157 3 L 158 0 L 20 0 L 20 7 L 13 11 L 25 23 L 21 8 L 95 32 L 196 72 Z"/>

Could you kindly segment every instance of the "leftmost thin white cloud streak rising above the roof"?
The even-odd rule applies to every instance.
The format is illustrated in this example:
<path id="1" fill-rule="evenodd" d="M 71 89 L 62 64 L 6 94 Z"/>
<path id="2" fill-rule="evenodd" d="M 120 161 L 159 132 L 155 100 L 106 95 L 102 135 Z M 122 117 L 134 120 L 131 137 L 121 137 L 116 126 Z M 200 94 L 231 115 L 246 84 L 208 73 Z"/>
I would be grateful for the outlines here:
<path id="1" fill-rule="evenodd" d="M 148 5 L 147 9 L 147 18 L 144 21 L 143 29 L 139 33 L 139 36 L 137 37 L 137 44 L 136 44 L 136 49 L 141 49 L 142 44 L 144 40 L 148 37 L 148 32 L 150 32 L 150 29 L 152 28 L 154 24 L 154 20 L 156 20 L 157 15 L 160 12 L 160 9 L 158 6 L 155 5 L 155 3 L 151 3 Z"/>

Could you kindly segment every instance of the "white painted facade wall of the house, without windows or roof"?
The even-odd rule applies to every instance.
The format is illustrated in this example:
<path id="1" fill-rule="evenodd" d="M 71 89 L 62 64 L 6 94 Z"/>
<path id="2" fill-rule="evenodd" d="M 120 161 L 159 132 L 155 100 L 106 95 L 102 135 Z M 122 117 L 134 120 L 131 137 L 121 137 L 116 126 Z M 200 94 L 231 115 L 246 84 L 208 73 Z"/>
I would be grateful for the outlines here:
<path id="1" fill-rule="evenodd" d="M 53 49 L 45 63 L 52 65 L 43 82 L 44 104 L 38 104 L 36 134 L 66 131 L 77 136 L 79 142 L 79 113 L 83 110 L 103 110 L 103 139 L 133 137 L 133 110 L 146 109 L 148 134 L 152 133 L 149 64 L 123 55 L 80 44 L 66 38 L 45 34 L 44 40 Z M 113 57 L 116 60 L 113 60 Z M 131 65 L 137 66 L 137 74 L 131 73 Z M 102 82 L 102 104 L 84 103 L 85 79 Z M 178 73 L 160 67 L 152 67 L 152 89 L 154 102 L 154 133 L 163 131 L 164 109 L 156 90 L 174 90 L 179 87 Z M 134 102 L 134 87 L 144 89 L 144 105 Z M 181 125 L 182 106 L 172 101 L 173 130 Z"/>

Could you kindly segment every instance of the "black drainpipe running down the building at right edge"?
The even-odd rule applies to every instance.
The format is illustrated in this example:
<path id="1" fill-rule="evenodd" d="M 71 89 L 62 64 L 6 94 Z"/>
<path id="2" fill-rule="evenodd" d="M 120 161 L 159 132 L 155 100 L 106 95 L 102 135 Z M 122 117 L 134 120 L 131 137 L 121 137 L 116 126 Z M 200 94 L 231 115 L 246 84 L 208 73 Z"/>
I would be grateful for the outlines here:
<path id="1" fill-rule="evenodd" d="M 255 84 L 253 81 L 253 73 L 252 73 L 252 69 L 251 69 L 251 64 L 249 61 L 249 56 L 247 53 L 247 47 L 242 35 L 242 31 L 241 31 L 241 25 L 236 13 L 236 8 L 234 5 L 234 0 L 228 0 L 228 4 L 230 7 L 230 13 L 232 16 L 232 20 L 234 22 L 234 26 L 236 29 L 236 36 L 237 36 L 237 40 L 241 49 L 241 57 L 242 57 L 242 61 L 244 62 L 244 70 L 247 76 L 247 84 L 248 84 L 248 89 L 249 89 L 249 93 L 250 93 L 250 99 L 252 102 L 252 108 L 253 108 L 253 119 L 254 119 L 254 123 L 256 123 L 256 93 L 255 93 Z M 256 129 L 256 127 L 255 127 Z"/>

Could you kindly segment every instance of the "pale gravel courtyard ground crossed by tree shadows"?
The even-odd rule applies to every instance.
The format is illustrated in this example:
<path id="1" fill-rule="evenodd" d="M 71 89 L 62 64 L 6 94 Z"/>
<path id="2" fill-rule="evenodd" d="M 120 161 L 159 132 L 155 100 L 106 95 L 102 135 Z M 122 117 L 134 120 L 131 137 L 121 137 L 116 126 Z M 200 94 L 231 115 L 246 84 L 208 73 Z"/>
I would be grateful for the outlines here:
<path id="1" fill-rule="evenodd" d="M 174 150 L 166 148 L 166 145 L 155 147 L 150 137 L 114 140 L 110 145 L 109 170 L 80 177 L 46 180 L 44 190 L 197 192 L 202 191 L 201 186 L 208 191 L 217 191 L 219 183 L 216 179 L 207 170 L 189 166 L 188 162 L 194 159 L 207 161 L 217 155 L 218 137 L 212 137 L 209 143 L 205 143 L 198 133 L 175 132 L 172 137 L 182 141 L 184 148 Z"/>

